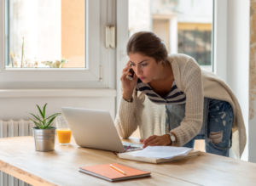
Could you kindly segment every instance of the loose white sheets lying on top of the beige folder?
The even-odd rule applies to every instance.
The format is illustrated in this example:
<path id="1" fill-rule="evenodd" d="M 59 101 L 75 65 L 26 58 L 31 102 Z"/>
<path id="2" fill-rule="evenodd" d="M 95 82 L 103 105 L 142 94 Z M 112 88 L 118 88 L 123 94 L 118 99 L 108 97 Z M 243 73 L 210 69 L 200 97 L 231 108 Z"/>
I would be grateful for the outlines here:
<path id="1" fill-rule="evenodd" d="M 156 159 L 171 159 L 175 156 L 188 155 L 192 149 L 186 147 L 172 146 L 148 146 L 145 149 L 138 150 L 133 156 L 150 157 Z"/>

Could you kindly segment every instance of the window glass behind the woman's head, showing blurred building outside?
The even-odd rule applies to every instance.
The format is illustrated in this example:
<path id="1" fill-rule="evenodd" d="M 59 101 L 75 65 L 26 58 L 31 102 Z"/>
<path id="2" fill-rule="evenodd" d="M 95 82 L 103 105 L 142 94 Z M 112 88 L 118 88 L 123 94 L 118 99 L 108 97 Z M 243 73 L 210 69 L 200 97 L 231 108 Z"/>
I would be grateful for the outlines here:
<path id="1" fill-rule="evenodd" d="M 188 54 L 212 70 L 212 5 L 212 0 L 129 0 L 129 35 L 153 31 L 169 54 Z"/>

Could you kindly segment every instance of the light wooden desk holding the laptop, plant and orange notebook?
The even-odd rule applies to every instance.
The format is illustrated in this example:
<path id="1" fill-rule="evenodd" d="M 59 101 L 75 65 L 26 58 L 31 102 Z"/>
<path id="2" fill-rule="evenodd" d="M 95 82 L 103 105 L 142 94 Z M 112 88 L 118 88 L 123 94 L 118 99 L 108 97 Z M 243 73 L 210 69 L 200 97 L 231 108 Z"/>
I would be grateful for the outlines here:
<path id="1" fill-rule="evenodd" d="M 130 141 L 137 142 L 135 139 Z M 79 166 L 118 162 L 152 172 L 151 178 L 108 182 L 79 172 Z M 218 155 L 154 165 L 117 158 L 112 152 L 55 145 L 38 152 L 32 137 L 0 139 L 0 171 L 32 185 L 255 185 L 256 165 Z"/>

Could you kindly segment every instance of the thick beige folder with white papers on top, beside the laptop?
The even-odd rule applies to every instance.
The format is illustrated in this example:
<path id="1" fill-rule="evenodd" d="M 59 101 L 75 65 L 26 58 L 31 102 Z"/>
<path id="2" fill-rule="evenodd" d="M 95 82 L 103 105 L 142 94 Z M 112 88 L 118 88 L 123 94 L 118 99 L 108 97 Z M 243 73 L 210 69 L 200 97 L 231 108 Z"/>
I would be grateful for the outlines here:
<path id="1" fill-rule="evenodd" d="M 201 151 L 186 147 L 148 146 L 142 150 L 119 153 L 119 158 L 149 163 L 161 163 L 177 161 L 196 155 L 201 155 Z"/>

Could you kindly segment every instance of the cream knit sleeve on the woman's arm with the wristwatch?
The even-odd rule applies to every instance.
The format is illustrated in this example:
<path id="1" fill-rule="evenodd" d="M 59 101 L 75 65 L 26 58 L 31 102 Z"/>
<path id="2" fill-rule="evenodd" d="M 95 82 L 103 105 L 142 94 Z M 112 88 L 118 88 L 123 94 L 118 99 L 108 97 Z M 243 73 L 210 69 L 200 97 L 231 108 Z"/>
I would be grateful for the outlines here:
<path id="1" fill-rule="evenodd" d="M 195 59 L 189 58 L 183 70 L 183 87 L 186 94 L 185 117 L 181 125 L 171 132 L 177 136 L 177 146 L 183 146 L 201 130 L 203 120 L 203 85 L 201 68 Z"/>

